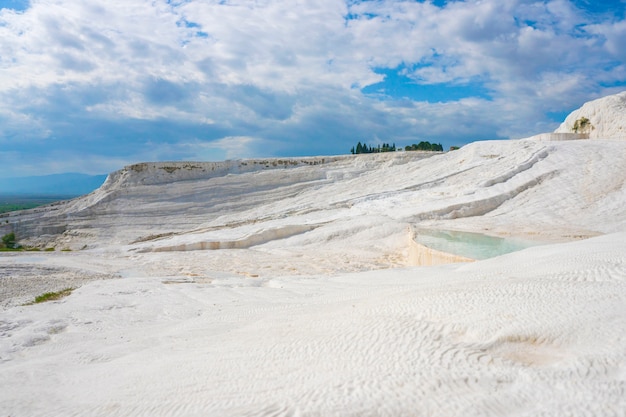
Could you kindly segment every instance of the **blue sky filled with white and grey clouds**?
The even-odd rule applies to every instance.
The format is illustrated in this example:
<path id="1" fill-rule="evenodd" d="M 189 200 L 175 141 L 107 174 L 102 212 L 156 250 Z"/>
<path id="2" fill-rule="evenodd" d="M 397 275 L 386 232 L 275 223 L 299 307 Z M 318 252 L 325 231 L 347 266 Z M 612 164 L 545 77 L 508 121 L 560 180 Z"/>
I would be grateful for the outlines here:
<path id="1" fill-rule="evenodd" d="M 0 0 L 4 176 L 444 148 L 626 90 L 626 0 Z"/>

